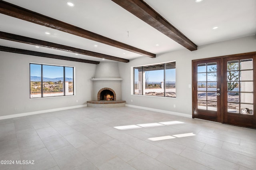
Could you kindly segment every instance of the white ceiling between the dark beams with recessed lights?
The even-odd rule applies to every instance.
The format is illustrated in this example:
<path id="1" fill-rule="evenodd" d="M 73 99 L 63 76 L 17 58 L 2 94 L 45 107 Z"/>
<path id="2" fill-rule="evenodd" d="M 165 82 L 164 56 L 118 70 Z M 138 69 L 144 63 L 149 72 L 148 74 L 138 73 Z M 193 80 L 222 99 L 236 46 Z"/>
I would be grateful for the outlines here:
<path id="1" fill-rule="evenodd" d="M 145 51 L 160 54 L 185 49 L 111 0 L 5 0 L 45 16 L 78 26 Z M 74 7 L 67 6 L 72 2 Z M 196 45 L 205 45 L 256 34 L 256 0 L 144 0 Z M 118 49 L 0 14 L 0 31 L 104 53 L 125 59 L 142 55 Z M 219 28 L 213 30 L 214 26 Z M 50 32 L 46 35 L 45 32 Z M 156 46 L 156 44 L 159 44 Z M 36 48 L 0 39 L 0 45 L 94 61 L 101 58 Z M 94 45 L 98 45 L 94 47 Z M 188 50 L 188 49 L 187 49 Z M 124 54 L 125 53 L 125 54 Z M 110 61 L 110 60 L 104 60 Z"/>

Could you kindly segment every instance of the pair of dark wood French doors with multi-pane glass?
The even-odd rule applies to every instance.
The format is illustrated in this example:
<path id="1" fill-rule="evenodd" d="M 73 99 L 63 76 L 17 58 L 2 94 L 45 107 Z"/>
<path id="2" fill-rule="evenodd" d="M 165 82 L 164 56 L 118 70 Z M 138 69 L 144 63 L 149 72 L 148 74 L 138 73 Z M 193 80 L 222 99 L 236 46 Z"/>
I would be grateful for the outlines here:
<path id="1" fill-rule="evenodd" d="M 192 62 L 193 118 L 256 128 L 256 55 Z"/>

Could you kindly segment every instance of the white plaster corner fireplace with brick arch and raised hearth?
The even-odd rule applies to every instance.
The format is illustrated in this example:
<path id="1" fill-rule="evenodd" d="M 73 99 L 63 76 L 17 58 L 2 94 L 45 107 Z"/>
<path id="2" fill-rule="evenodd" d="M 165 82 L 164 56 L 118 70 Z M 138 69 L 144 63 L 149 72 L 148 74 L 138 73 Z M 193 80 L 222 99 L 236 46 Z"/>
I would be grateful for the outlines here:
<path id="1" fill-rule="evenodd" d="M 93 82 L 93 101 L 87 101 L 88 107 L 124 107 L 125 101 L 121 95 L 121 81 L 117 62 L 101 62 L 97 65 Z M 114 100 L 100 100 L 100 93 L 110 90 L 114 93 Z"/>

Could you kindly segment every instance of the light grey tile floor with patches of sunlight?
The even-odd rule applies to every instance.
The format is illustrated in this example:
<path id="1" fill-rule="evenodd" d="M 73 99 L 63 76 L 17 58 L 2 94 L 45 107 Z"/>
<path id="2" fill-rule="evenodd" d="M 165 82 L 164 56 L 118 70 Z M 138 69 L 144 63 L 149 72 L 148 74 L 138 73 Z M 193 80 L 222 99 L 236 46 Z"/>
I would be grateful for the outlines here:
<path id="1" fill-rule="evenodd" d="M 122 126 L 139 128 L 114 128 Z M 84 107 L 0 120 L 0 160 L 14 161 L 1 170 L 256 170 L 256 130 L 130 107 Z"/>

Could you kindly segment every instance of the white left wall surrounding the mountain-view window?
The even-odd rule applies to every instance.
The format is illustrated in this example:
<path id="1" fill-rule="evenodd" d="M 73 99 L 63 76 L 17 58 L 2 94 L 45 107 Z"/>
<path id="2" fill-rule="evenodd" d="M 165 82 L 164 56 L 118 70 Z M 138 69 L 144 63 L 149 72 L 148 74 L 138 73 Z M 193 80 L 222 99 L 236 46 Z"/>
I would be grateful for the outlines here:
<path id="1" fill-rule="evenodd" d="M 75 96 L 30 99 L 29 63 L 75 67 Z M 96 64 L 0 51 L 0 116 L 86 105 L 92 100 Z M 76 102 L 78 100 L 78 102 Z"/>

